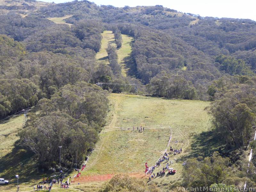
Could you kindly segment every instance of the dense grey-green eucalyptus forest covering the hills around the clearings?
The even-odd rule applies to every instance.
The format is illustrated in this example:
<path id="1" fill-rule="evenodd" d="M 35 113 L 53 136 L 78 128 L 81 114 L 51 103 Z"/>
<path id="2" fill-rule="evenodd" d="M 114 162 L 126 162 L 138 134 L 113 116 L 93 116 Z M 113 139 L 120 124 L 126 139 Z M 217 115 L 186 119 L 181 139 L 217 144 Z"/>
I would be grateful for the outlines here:
<path id="1" fill-rule="evenodd" d="M 227 174 L 245 169 L 240 162 L 243 154 L 232 151 L 247 149 L 255 129 L 255 21 L 201 17 L 161 5 L 98 6 L 86 0 L 38 9 L 30 5 L 0 9 L 5 10 L 0 12 L 0 119 L 35 106 L 20 132 L 20 145 L 35 152 L 42 167 L 58 166 L 59 142 L 66 146 L 61 166 L 67 169 L 75 164 L 78 143 L 85 154 L 96 143 L 111 90 L 96 83 L 137 84 L 136 89 L 117 86 L 111 91 L 212 101 L 207 110 L 228 151 L 220 155 L 231 161 L 220 159 L 219 154 L 212 160 L 191 160 L 188 172 L 199 166 L 206 174 L 203 169 L 209 161 L 225 170 L 208 180 L 185 175 L 184 186 L 242 182 L 239 175 L 231 180 Z M 65 19 L 72 25 L 47 19 L 65 15 L 72 15 Z M 113 31 L 117 49 L 122 47 L 121 34 L 133 37 L 127 61 L 132 70 L 127 76 L 122 76 L 116 49 L 110 44 L 109 65 L 95 59 L 104 30 Z M 67 136 L 67 132 L 72 134 Z M 42 145 L 45 141 L 47 145 Z M 81 153 L 79 164 L 83 160 Z M 252 186 L 255 158 L 253 165 L 248 175 Z"/>

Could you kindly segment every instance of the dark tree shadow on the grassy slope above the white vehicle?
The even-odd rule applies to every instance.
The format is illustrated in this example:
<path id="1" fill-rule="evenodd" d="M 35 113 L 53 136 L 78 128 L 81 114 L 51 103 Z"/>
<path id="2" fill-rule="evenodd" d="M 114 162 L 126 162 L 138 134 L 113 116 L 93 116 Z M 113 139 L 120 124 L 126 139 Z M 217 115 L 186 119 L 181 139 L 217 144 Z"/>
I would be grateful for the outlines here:
<path id="1" fill-rule="evenodd" d="M 18 146 L 15 142 L 12 152 L 0 158 L 1 177 L 11 182 L 16 181 L 15 175 L 20 175 L 20 181 L 26 182 L 31 179 L 39 179 L 37 173 L 36 160 L 34 153 Z"/>

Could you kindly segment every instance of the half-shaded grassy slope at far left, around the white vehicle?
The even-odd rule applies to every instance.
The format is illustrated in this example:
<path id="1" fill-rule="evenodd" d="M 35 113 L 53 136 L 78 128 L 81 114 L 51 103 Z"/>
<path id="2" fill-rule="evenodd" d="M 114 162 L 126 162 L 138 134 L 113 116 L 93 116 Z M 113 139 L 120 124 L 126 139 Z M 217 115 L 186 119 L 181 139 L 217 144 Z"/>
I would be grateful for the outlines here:
<path id="1" fill-rule="evenodd" d="M 19 140 L 18 131 L 22 128 L 23 120 L 24 116 L 20 115 L 0 124 L 0 177 L 12 183 L 6 186 L 1 185 L 0 191 L 15 190 L 16 174 L 20 175 L 20 182 L 23 182 L 20 186 L 22 191 L 38 183 L 38 179 L 43 176 L 37 173 L 36 163 L 32 158 L 33 153 L 16 145 Z"/>

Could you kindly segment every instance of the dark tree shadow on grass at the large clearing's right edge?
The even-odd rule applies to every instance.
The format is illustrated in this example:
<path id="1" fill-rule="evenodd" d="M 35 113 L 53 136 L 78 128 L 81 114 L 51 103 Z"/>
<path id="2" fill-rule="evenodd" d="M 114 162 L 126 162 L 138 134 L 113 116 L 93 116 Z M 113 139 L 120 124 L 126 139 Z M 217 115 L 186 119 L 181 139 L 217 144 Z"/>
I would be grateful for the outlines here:
<path id="1" fill-rule="evenodd" d="M 209 130 L 192 136 L 191 140 L 194 141 L 190 147 L 191 152 L 188 156 L 183 156 L 180 161 L 185 161 L 187 158 L 198 156 L 211 156 L 213 152 L 219 151 L 223 147 L 220 140 L 220 133 L 215 130 Z"/>

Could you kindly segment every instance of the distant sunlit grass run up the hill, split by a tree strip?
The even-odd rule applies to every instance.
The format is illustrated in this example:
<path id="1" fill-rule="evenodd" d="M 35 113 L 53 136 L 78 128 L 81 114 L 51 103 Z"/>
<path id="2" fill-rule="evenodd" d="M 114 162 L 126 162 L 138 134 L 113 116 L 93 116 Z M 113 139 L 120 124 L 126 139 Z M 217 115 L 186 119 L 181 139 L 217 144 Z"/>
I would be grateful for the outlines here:
<path id="1" fill-rule="evenodd" d="M 122 39 L 122 47 L 116 49 L 116 53 L 118 55 L 118 63 L 122 66 L 122 75 L 126 76 L 129 67 L 126 66 L 125 63 L 126 60 L 129 59 L 130 54 L 132 52 L 131 42 L 133 41 L 133 38 L 131 36 L 122 34 Z M 101 48 L 100 51 L 96 54 L 96 59 L 106 64 L 108 64 L 108 53 L 106 49 L 109 43 L 116 48 L 114 33 L 112 33 L 112 31 L 104 31 L 102 33 Z"/>

